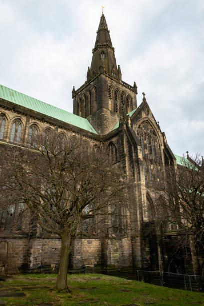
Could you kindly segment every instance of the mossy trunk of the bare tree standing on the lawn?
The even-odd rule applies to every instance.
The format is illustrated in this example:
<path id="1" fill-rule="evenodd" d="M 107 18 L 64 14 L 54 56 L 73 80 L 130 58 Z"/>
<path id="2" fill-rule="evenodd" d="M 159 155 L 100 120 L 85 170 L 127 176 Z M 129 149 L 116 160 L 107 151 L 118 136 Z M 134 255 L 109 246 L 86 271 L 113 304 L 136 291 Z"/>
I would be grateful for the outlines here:
<path id="1" fill-rule="evenodd" d="M 67 285 L 67 270 L 71 249 L 71 236 L 69 233 L 61 234 L 61 257 L 56 287 L 59 291 L 71 292 Z"/>

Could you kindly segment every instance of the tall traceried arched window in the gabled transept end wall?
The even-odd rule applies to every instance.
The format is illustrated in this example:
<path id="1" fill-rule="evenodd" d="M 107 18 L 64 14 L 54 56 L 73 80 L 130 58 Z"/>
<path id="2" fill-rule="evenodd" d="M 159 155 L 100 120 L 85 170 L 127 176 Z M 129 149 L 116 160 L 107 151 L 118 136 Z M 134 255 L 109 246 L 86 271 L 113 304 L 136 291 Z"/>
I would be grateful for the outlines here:
<path id="1" fill-rule="evenodd" d="M 152 187 L 160 180 L 160 149 L 154 129 L 144 121 L 137 129 L 137 135 L 141 142 L 142 157 L 144 160 L 145 185 Z"/>

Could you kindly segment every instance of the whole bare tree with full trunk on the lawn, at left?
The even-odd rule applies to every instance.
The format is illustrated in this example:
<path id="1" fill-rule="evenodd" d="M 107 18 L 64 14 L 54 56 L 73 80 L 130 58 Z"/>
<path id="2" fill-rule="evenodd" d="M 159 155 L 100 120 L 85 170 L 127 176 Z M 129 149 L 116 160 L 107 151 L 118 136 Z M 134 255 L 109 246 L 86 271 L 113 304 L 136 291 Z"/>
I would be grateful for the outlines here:
<path id="1" fill-rule="evenodd" d="M 128 202 L 124 173 L 109 162 L 104 144 L 88 147 L 80 137 L 43 134 L 29 149 L 13 147 L 2 162 L 1 205 L 24 204 L 30 219 L 61 238 L 57 289 L 67 290 L 71 241 L 110 227 L 111 214 Z M 91 223 L 93 224 L 93 223 Z M 105 225 L 106 224 L 106 225 Z M 115 225 L 114 225 L 115 226 Z"/>

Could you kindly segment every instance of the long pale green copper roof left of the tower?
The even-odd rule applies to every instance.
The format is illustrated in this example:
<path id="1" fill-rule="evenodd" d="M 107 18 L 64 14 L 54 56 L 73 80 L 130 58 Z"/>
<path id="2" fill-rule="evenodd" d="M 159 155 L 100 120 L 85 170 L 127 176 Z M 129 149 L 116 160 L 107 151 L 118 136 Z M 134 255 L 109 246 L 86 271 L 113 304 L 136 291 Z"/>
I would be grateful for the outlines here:
<path id="1" fill-rule="evenodd" d="M 0 98 L 97 134 L 87 119 L 2 85 L 0 85 Z"/>

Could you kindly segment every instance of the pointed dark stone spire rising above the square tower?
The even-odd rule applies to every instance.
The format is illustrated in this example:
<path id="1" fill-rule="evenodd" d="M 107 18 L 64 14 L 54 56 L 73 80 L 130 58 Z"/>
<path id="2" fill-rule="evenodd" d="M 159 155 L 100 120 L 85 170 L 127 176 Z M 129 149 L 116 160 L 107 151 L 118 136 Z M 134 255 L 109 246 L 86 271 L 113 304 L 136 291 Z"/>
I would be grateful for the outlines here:
<path id="1" fill-rule="evenodd" d="M 90 79 L 99 73 L 107 74 L 117 80 L 121 80 L 121 70 L 117 68 L 114 48 L 110 38 L 110 31 L 104 14 L 100 18 L 93 57 L 90 67 Z"/>

